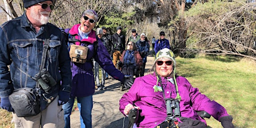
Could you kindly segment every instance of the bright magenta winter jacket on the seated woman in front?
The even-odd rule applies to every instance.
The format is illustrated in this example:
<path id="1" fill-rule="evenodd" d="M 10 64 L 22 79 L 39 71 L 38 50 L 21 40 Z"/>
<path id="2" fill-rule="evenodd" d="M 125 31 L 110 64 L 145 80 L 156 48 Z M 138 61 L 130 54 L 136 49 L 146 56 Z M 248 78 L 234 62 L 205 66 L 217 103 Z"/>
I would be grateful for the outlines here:
<path id="1" fill-rule="evenodd" d="M 164 77 L 161 77 L 161 80 L 165 98 L 175 98 L 175 85 L 169 80 L 164 79 Z M 157 79 L 154 74 L 137 77 L 129 91 L 124 93 L 120 99 L 119 110 L 122 113 L 125 105 L 128 103 L 134 103 L 136 106 L 140 107 L 142 110 L 140 116 L 144 116 L 144 119 L 139 123 L 139 127 L 155 127 L 163 122 L 167 116 L 162 92 L 154 92 L 153 89 L 156 81 Z M 204 122 L 206 126 L 205 120 L 202 119 L 195 110 L 204 110 L 217 120 L 222 116 L 228 115 L 223 106 L 214 100 L 211 101 L 204 94 L 201 94 L 198 91 L 198 88 L 192 87 L 186 78 L 178 76 L 176 77 L 176 81 L 178 85 L 178 92 L 181 96 L 179 103 L 181 116 L 198 119 Z M 160 86 L 160 84 L 158 84 L 158 86 Z M 192 106 L 190 106 L 190 101 Z M 180 120 L 178 119 L 178 121 Z"/>

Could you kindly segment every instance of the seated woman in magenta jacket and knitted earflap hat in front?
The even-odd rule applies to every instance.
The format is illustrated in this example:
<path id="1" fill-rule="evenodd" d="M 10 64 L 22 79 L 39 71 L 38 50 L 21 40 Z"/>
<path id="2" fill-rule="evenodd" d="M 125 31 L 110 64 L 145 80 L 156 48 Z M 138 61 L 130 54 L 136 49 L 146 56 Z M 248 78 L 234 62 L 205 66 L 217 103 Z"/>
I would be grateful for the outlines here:
<path id="1" fill-rule="evenodd" d="M 161 49 L 155 57 L 150 73 L 137 77 L 119 101 L 119 110 L 125 116 L 138 109 L 136 127 L 207 126 L 197 111 L 206 111 L 224 128 L 234 127 L 232 116 L 223 106 L 192 87 L 185 77 L 175 74 L 176 61 L 171 50 Z"/>

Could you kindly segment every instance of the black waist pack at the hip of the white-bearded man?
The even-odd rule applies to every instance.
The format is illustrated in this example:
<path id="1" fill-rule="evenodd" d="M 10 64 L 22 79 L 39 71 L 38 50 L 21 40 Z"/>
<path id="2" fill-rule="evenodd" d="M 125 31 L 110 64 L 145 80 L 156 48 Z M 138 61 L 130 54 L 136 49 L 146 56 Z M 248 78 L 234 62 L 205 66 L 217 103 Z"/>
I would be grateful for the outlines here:
<path id="1" fill-rule="evenodd" d="M 33 116 L 40 112 L 40 101 L 33 88 L 14 89 L 9 95 L 9 101 L 18 117 Z"/>

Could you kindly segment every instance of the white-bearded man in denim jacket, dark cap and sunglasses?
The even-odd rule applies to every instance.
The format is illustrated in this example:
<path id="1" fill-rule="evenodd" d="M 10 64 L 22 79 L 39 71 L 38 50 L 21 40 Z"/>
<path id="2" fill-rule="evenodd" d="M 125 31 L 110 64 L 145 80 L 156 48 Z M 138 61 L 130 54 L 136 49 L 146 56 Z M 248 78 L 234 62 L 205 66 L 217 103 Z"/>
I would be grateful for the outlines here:
<path id="1" fill-rule="evenodd" d="M 0 25 L 0 107 L 12 112 L 15 127 L 64 127 L 62 104 L 71 91 L 70 57 L 62 32 L 48 23 L 54 4 L 23 3 L 23 15 Z M 28 102 L 39 104 L 31 112 L 21 107 L 25 102 L 11 98 L 25 88 L 35 95 Z"/>

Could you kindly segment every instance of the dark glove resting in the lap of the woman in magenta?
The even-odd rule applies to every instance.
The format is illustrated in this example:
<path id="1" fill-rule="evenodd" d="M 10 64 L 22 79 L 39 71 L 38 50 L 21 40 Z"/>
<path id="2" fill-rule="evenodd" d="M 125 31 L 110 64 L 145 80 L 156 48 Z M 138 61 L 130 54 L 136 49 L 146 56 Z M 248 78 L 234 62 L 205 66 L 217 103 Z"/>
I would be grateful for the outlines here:
<path id="1" fill-rule="evenodd" d="M 200 120 L 194 120 L 187 117 L 179 117 L 180 121 L 178 123 L 179 128 L 204 128 L 205 124 L 201 122 Z"/>

